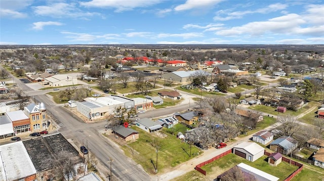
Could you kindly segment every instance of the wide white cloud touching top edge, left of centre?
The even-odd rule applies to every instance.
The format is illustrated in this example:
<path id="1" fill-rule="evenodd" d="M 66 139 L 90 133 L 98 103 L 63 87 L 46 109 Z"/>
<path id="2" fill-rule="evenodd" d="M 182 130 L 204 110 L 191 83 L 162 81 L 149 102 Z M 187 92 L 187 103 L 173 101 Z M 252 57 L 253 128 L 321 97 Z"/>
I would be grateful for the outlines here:
<path id="1" fill-rule="evenodd" d="M 123 12 L 135 8 L 149 7 L 161 2 L 161 0 L 92 0 L 90 2 L 80 2 L 80 5 L 95 8 L 114 8 L 116 9 L 115 12 Z"/>

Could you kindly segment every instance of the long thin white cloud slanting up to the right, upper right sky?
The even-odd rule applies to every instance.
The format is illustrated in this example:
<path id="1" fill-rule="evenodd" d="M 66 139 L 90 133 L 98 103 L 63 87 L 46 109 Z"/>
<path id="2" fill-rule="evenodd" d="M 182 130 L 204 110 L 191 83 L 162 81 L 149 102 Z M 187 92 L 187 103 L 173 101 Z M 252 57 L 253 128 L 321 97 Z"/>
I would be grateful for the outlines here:
<path id="1" fill-rule="evenodd" d="M 245 15 L 248 14 L 255 14 L 255 13 L 260 13 L 260 14 L 268 14 L 271 12 L 276 12 L 280 10 L 284 10 L 288 7 L 288 5 L 281 4 L 281 3 L 276 3 L 269 5 L 265 8 L 260 8 L 254 11 L 237 11 L 237 12 L 228 12 L 228 11 L 218 11 L 217 16 L 214 17 L 215 21 L 228 21 L 228 20 L 233 20 L 233 19 L 240 19 Z M 226 14 L 226 17 L 220 16 L 221 14 Z"/>

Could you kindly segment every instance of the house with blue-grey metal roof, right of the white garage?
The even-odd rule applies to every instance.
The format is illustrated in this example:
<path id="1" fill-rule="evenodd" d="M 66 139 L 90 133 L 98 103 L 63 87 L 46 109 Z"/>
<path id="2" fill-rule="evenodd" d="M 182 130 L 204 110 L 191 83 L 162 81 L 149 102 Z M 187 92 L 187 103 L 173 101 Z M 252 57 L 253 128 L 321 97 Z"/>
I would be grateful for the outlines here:
<path id="1" fill-rule="evenodd" d="M 280 137 L 270 143 L 270 150 L 279 152 L 281 154 L 290 154 L 298 146 L 298 141 L 294 138 L 286 136 Z"/>

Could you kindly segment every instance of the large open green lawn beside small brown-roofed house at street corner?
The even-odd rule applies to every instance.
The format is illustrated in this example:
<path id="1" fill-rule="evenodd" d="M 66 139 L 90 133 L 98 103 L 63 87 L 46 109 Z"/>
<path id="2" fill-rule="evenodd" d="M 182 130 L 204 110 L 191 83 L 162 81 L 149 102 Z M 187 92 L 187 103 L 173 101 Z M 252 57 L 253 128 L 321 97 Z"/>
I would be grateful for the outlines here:
<path id="1" fill-rule="evenodd" d="M 150 160 L 152 159 L 153 163 L 156 163 L 156 145 L 158 145 L 158 172 L 164 172 L 168 168 L 175 167 L 180 163 L 190 160 L 196 156 L 198 152 L 201 153 L 198 148 L 191 146 L 191 157 L 189 157 L 189 144 L 182 143 L 176 136 L 165 131 L 161 131 L 161 133 L 164 133 L 167 137 L 161 138 L 155 134 L 144 132 L 137 127 L 132 127 L 132 129 L 139 132 L 139 139 L 134 142 L 134 149 L 139 152 L 139 154 L 134 153 L 133 155 L 131 149 L 126 146 L 121 148 L 125 151 L 127 156 L 142 165 L 148 173 L 155 173 L 154 166 Z M 133 146 L 132 142 L 128 143 L 128 145 L 131 148 Z"/>

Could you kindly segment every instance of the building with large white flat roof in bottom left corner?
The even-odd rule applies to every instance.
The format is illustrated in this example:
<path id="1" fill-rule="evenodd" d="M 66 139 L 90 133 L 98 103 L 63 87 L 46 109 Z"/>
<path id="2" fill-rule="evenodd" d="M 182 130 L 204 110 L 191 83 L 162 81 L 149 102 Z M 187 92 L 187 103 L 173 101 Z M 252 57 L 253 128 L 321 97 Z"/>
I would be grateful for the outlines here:
<path id="1" fill-rule="evenodd" d="M 0 145 L 0 180 L 35 180 L 36 169 L 23 142 Z"/>

